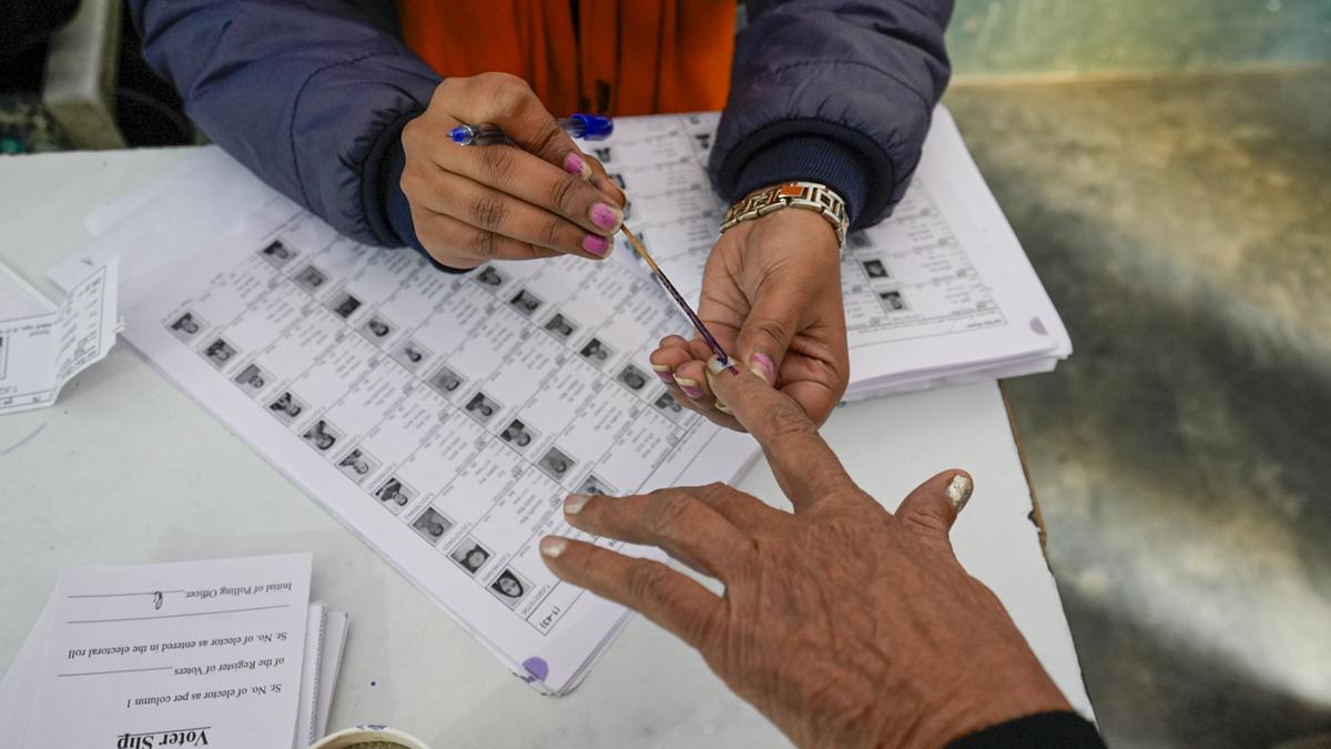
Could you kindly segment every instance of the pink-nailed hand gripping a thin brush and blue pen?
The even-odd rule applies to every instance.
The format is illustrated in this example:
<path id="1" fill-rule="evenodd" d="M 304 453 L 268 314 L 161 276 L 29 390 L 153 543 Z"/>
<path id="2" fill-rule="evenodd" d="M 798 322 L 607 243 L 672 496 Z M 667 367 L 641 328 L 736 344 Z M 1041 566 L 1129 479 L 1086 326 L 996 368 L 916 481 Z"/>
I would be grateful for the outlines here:
<path id="1" fill-rule="evenodd" d="M 449 132 L 494 123 L 515 145 L 461 147 Z M 402 131 L 402 192 L 439 263 L 610 255 L 624 193 L 582 153 L 531 88 L 507 73 L 446 79 Z"/>

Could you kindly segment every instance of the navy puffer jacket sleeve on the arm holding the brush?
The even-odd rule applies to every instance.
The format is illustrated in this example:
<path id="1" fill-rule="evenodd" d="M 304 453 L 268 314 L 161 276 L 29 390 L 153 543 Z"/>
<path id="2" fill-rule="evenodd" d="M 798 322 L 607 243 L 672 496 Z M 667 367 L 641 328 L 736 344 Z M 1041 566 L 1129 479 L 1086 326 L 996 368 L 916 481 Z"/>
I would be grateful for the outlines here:
<path id="1" fill-rule="evenodd" d="M 338 0 L 129 0 L 185 113 L 264 181 L 358 241 L 398 245 L 383 165 L 439 76 Z"/>

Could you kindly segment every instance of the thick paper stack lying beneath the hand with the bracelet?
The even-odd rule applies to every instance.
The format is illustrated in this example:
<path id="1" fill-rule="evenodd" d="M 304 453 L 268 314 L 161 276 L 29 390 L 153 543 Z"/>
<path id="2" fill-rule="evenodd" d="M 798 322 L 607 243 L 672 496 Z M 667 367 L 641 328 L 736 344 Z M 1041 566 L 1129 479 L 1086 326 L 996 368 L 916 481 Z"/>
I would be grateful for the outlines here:
<path id="1" fill-rule="evenodd" d="M 632 199 L 634 229 L 692 300 L 727 208 L 705 172 L 716 123 L 716 113 L 623 117 L 594 149 Z M 847 245 L 847 400 L 1046 372 L 1071 353 L 1058 312 L 942 107 L 905 199 Z M 620 249 L 632 257 L 624 240 Z"/>

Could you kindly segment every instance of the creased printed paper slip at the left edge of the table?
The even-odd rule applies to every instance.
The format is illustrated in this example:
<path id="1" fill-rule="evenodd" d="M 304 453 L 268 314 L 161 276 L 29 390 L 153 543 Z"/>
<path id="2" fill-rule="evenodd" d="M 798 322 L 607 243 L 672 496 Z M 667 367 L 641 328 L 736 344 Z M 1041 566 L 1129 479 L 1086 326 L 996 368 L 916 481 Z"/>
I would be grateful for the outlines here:
<path id="1" fill-rule="evenodd" d="M 0 275 L 4 307 L 20 312 L 0 320 L 0 414 L 55 404 L 65 382 L 110 352 L 118 267 L 112 257 L 93 268 L 55 312 L 40 311 L 41 300 L 21 300 L 24 291 Z"/>

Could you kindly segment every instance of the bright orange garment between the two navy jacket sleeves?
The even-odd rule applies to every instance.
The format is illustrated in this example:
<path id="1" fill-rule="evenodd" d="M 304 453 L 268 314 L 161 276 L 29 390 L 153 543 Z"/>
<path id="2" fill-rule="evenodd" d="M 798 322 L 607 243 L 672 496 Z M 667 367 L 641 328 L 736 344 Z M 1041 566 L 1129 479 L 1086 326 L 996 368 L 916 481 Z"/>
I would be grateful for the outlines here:
<path id="1" fill-rule="evenodd" d="M 407 44 L 443 76 L 520 76 L 554 115 L 720 109 L 735 0 L 399 0 Z"/>

